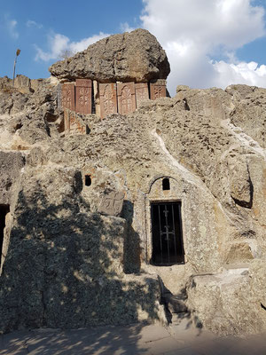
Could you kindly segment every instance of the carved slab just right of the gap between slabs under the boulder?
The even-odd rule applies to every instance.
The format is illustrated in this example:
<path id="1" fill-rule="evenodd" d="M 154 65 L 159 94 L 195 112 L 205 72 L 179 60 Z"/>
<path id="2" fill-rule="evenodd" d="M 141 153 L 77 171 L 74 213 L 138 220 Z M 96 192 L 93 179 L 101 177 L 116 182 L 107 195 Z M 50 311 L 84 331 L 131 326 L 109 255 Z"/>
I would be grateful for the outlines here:
<path id="1" fill-rule="evenodd" d="M 101 118 L 117 113 L 116 83 L 100 83 Z"/>

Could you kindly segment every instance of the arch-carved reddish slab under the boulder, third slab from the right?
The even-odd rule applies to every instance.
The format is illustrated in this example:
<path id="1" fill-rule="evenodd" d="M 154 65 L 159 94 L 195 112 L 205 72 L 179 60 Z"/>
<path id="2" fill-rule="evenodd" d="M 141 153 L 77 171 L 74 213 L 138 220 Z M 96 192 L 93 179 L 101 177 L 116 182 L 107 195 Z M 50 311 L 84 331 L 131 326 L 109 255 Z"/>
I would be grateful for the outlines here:
<path id="1" fill-rule="evenodd" d="M 117 84 L 118 112 L 130 114 L 136 110 L 135 84 Z"/>

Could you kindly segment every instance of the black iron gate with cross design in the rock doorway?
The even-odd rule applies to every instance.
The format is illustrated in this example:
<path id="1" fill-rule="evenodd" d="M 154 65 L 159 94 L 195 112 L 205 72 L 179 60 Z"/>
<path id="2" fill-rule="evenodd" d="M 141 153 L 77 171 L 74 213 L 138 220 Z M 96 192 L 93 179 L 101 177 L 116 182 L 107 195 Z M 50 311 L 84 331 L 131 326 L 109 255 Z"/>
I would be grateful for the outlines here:
<path id="1" fill-rule="evenodd" d="M 152 264 L 184 263 L 181 202 L 152 202 Z"/>

